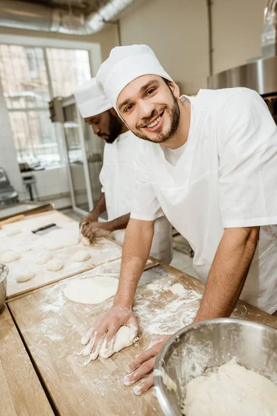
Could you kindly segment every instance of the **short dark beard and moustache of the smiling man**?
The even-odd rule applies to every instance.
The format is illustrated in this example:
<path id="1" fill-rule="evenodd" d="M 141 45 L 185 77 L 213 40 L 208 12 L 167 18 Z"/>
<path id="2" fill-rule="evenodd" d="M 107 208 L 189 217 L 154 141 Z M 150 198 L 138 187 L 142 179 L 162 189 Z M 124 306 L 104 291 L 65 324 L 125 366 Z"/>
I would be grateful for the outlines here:
<path id="1" fill-rule="evenodd" d="M 170 92 L 172 94 L 172 91 L 170 89 Z M 133 131 L 134 135 L 136 135 L 137 137 L 139 137 L 140 139 L 143 140 L 147 140 L 147 141 L 152 141 L 152 143 L 163 143 L 164 141 L 167 141 L 169 139 L 171 139 L 171 137 L 173 137 L 175 135 L 175 133 L 178 130 L 179 127 L 179 122 L 180 122 L 180 109 L 179 109 L 179 105 L 177 103 L 177 99 L 175 98 L 175 96 L 172 94 L 173 97 L 173 104 L 170 107 L 169 105 L 164 105 L 163 107 L 160 107 L 159 110 L 157 110 L 156 108 L 152 111 L 152 114 L 150 117 L 148 117 L 147 119 L 143 119 L 143 121 L 141 122 L 141 128 L 143 128 L 143 125 L 147 125 L 150 123 L 150 121 L 155 117 L 158 116 L 159 114 L 161 114 L 161 112 L 165 112 L 166 110 L 168 110 L 168 114 L 170 116 L 170 127 L 168 129 L 167 132 L 154 132 L 154 134 L 156 135 L 155 139 L 150 139 L 150 137 L 148 137 L 148 135 L 145 135 L 144 133 L 141 133 L 141 129 L 136 130 L 135 132 Z M 150 133 L 151 134 L 151 133 Z"/>

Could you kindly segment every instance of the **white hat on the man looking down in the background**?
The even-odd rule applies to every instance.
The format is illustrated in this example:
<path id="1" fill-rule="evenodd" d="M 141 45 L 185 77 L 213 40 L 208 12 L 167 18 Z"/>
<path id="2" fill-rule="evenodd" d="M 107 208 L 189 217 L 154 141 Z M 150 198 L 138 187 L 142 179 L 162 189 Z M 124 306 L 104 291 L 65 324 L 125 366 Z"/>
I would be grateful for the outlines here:
<path id="1" fill-rule="evenodd" d="M 76 89 L 74 96 L 83 118 L 96 116 L 112 108 L 109 100 L 100 92 L 96 78 L 82 84 Z"/>

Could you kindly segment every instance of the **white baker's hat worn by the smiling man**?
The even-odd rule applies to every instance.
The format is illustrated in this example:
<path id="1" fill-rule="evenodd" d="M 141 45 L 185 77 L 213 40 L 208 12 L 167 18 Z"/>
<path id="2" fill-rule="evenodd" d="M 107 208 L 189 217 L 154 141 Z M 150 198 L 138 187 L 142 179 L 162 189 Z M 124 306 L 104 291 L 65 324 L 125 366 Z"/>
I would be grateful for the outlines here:
<path id="1" fill-rule="evenodd" d="M 100 65 L 96 81 L 117 111 L 116 101 L 123 88 L 139 76 L 150 74 L 172 81 L 149 46 L 116 46 Z"/>

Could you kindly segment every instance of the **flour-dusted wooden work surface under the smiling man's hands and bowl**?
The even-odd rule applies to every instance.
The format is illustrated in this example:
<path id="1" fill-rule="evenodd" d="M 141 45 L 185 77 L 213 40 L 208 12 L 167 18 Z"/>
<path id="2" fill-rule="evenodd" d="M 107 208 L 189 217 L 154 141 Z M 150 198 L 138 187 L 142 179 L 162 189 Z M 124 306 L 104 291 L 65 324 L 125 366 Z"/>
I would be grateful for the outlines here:
<path id="1" fill-rule="evenodd" d="M 136 397 L 132 386 L 123 385 L 123 376 L 125 366 L 148 347 L 150 340 L 156 338 L 155 333 L 175 332 L 191 322 L 197 311 L 204 290 L 202 282 L 170 266 L 164 268 L 168 272 L 166 276 L 136 291 L 134 311 L 142 329 L 139 342 L 107 360 L 100 358 L 89 363 L 87 367 L 83 365 L 86 358 L 78 355 L 82 349 L 80 339 L 96 316 L 111 307 L 112 299 L 99 305 L 66 300 L 63 291 L 73 279 L 71 277 L 9 302 L 60 415 L 163 415 L 152 390 Z M 182 297 L 171 291 L 176 283 L 185 288 Z M 233 317 L 277 327 L 277 318 L 243 302 L 239 302 Z"/>

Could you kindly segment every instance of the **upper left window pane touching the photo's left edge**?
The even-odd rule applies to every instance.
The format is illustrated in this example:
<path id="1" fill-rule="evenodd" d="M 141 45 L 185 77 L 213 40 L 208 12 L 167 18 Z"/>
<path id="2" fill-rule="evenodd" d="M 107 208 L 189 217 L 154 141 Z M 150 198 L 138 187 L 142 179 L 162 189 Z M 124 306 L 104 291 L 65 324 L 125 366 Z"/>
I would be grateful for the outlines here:
<path id="1" fill-rule="evenodd" d="M 48 107 L 42 48 L 1 44 L 0 76 L 8 109 Z"/>

